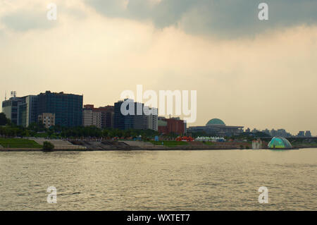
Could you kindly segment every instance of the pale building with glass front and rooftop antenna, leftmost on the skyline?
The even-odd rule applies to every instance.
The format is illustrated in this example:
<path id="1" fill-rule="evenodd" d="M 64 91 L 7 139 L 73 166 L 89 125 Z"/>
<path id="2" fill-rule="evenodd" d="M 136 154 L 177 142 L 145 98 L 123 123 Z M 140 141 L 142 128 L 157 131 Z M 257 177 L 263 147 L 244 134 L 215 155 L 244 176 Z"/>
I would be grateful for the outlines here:
<path id="1" fill-rule="evenodd" d="M 2 111 L 15 125 L 27 127 L 30 123 L 37 122 L 37 96 L 16 97 L 14 95 L 2 102 Z"/>

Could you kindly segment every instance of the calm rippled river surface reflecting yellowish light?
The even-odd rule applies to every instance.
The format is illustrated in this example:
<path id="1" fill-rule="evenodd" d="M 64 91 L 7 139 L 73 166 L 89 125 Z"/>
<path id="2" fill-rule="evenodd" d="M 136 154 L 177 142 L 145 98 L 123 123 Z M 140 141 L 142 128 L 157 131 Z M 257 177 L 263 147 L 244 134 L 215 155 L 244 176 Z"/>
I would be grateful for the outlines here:
<path id="1" fill-rule="evenodd" d="M 316 189 L 317 149 L 0 152 L 0 210 L 317 210 Z"/>

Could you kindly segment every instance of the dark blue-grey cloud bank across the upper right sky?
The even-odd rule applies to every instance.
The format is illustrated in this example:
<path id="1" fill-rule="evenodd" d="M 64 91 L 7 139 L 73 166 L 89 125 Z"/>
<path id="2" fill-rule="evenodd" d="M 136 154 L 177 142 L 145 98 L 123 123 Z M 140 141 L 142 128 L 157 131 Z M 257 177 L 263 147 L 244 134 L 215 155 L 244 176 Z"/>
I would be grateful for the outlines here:
<path id="1" fill-rule="evenodd" d="M 258 19 L 261 2 L 269 6 L 269 20 Z M 312 0 L 85 0 L 107 17 L 151 20 L 156 28 L 179 26 L 196 35 L 242 37 L 267 30 L 317 23 Z"/>

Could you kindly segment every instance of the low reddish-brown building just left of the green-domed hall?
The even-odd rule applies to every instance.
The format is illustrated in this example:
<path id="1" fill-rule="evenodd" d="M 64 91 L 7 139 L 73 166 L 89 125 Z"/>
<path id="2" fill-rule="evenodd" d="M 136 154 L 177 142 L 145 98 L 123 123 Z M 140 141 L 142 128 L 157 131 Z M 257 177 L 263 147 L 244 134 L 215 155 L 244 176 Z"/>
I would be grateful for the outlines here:
<path id="1" fill-rule="evenodd" d="M 159 117 L 158 121 L 159 133 L 176 133 L 182 135 L 185 133 L 185 123 L 179 117 L 177 118 L 164 118 Z"/>

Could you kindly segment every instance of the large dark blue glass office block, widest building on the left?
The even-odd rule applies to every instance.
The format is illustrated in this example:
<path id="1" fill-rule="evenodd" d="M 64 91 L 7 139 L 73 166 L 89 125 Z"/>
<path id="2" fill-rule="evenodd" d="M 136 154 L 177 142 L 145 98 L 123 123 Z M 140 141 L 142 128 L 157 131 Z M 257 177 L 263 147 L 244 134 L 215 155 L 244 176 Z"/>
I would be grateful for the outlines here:
<path id="1" fill-rule="evenodd" d="M 55 114 L 59 126 L 82 126 L 82 95 L 46 91 L 37 95 L 37 115 Z"/>

